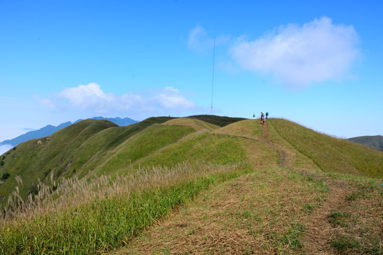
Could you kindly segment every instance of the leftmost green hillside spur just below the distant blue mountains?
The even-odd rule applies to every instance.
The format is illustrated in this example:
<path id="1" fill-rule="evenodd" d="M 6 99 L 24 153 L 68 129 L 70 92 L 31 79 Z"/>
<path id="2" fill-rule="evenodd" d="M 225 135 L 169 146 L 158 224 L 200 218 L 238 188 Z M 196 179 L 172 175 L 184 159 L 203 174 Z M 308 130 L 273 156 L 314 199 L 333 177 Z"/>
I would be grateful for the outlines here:
<path id="1" fill-rule="evenodd" d="M 62 176 L 70 169 L 76 149 L 83 142 L 102 130 L 116 127 L 108 120 L 83 120 L 59 130 L 51 137 L 30 140 L 18 145 L 15 150 L 5 154 L 1 173 L 11 176 L 1 184 L 0 197 L 7 197 L 18 186 L 15 177 L 21 176 L 20 194 L 37 192 L 38 179 L 43 180 L 54 171 L 55 177 Z M 3 201 L 3 205 L 6 200 Z"/>

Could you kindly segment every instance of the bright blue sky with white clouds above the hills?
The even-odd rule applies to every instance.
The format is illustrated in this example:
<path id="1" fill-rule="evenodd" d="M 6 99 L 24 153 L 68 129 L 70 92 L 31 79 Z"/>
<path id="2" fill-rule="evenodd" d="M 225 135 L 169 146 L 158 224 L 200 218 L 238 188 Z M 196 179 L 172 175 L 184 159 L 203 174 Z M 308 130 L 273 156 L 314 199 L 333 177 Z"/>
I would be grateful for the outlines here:
<path id="1" fill-rule="evenodd" d="M 382 1 L 0 1 L 0 141 L 99 115 L 210 114 L 212 84 L 216 115 L 268 111 L 337 137 L 383 135 L 382 10 Z"/>

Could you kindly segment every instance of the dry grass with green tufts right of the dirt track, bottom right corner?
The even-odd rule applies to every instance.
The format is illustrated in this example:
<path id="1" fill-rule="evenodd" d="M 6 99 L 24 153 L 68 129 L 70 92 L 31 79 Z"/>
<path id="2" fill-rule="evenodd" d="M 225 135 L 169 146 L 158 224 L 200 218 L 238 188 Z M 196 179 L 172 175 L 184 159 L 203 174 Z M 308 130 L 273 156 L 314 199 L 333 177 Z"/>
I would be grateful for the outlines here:
<path id="1" fill-rule="evenodd" d="M 338 254 L 383 254 L 383 187 L 349 183 L 343 203 L 328 214 L 329 244 Z"/>

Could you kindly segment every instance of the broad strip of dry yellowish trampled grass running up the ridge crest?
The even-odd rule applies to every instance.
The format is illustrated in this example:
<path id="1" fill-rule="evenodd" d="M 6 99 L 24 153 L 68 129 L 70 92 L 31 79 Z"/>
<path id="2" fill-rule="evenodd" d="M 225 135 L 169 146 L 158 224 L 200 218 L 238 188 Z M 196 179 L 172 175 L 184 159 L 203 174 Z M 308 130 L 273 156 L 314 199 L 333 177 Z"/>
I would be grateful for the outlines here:
<path id="1" fill-rule="evenodd" d="M 331 214 L 355 186 L 323 173 L 270 121 L 211 132 L 242 139 L 254 172 L 204 191 L 114 254 L 339 254 Z"/>

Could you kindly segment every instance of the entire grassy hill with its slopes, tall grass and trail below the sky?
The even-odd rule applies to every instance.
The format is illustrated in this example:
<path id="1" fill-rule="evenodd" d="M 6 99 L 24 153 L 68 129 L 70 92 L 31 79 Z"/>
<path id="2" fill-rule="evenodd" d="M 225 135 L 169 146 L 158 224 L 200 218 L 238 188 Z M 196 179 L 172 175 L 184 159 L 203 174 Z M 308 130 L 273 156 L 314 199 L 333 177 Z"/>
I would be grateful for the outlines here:
<path id="1" fill-rule="evenodd" d="M 4 156 L 0 254 L 383 253 L 383 154 L 288 120 L 84 120 Z"/>

